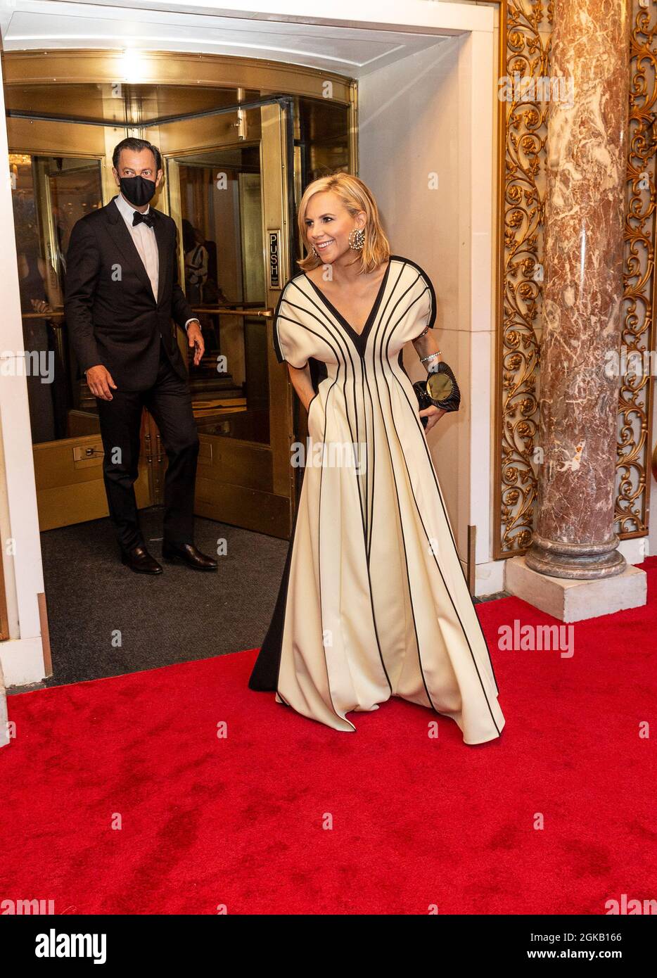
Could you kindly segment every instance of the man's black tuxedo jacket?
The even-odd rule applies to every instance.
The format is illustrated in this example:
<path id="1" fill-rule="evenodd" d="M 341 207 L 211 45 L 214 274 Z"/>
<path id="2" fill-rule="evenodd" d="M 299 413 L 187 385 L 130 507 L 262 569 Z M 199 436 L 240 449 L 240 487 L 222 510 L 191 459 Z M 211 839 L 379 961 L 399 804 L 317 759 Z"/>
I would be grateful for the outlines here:
<path id="1" fill-rule="evenodd" d="M 66 254 L 66 326 L 80 370 L 103 364 L 119 390 L 153 386 L 160 336 L 176 373 L 187 379 L 175 320 L 194 313 L 178 284 L 175 222 L 150 208 L 159 255 L 158 294 L 113 200 L 80 218 Z"/>

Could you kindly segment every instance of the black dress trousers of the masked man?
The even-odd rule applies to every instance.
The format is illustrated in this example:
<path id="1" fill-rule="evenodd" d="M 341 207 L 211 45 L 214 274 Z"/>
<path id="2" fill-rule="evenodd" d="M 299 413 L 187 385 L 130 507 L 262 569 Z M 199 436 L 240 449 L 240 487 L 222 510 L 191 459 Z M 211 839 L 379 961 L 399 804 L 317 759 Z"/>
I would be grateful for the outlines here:
<path id="1" fill-rule="evenodd" d="M 164 540 L 172 544 L 194 543 L 198 433 L 189 384 L 173 370 L 160 341 L 153 387 L 112 390 L 111 394 L 111 401 L 97 398 L 97 403 L 105 450 L 105 490 L 120 548 L 128 551 L 144 546 L 134 490 L 139 474 L 143 407 L 153 415 L 168 459 L 164 476 Z"/>

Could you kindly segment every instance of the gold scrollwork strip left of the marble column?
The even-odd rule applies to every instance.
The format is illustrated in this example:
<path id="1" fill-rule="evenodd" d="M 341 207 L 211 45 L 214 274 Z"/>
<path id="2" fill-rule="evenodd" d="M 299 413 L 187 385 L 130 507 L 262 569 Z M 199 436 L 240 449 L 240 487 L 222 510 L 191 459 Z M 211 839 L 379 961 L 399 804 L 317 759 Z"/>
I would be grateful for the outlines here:
<path id="1" fill-rule="evenodd" d="M 512 0 L 507 4 L 501 75 L 547 75 L 550 13 L 541 2 Z M 495 511 L 500 513 L 501 533 L 496 557 L 523 553 L 529 547 L 537 491 L 532 456 L 539 423 L 547 103 L 530 101 L 529 94 L 525 91 L 520 101 L 513 93 L 510 101 L 501 102 L 503 312 L 498 328 L 496 419 L 501 454 L 495 473 Z"/>

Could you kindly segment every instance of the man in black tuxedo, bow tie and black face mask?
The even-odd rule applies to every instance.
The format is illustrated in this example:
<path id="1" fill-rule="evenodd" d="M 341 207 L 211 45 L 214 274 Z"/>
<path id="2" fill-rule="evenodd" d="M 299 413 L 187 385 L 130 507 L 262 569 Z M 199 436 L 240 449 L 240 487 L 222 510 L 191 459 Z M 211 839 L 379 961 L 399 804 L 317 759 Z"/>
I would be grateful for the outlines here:
<path id="1" fill-rule="evenodd" d="M 168 458 L 162 556 L 216 570 L 217 561 L 194 543 L 198 434 L 172 319 L 187 331 L 196 365 L 204 344 L 178 284 L 175 223 L 149 203 L 162 180 L 161 156 L 146 140 L 124 139 L 112 163 L 119 193 L 73 227 L 65 298 L 68 335 L 97 398 L 110 518 L 122 562 L 161 574 L 146 549 L 134 491 L 146 406 Z"/>

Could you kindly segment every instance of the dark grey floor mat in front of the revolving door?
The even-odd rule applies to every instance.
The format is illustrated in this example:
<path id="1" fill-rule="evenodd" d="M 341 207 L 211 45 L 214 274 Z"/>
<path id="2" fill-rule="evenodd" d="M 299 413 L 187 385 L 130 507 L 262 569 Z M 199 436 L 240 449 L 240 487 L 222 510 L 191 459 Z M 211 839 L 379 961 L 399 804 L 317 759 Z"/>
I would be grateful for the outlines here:
<path id="1" fill-rule="evenodd" d="M 140 513 L 157 558 L 161 517 L 158 507 Z M 120 563 L 109 519 L 42 533 L 53 676 L 11 691 L 259 647 L 276 603 L 287 541 L 197 517 L 196 542 L 203 553 L 216 556 L 220 538 L 227 541 L 227 553 L 217 556 L 217 573 L 164 563 L 164 573 L 152 577 Z"/>

